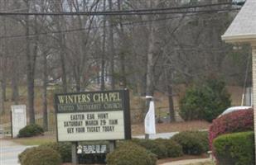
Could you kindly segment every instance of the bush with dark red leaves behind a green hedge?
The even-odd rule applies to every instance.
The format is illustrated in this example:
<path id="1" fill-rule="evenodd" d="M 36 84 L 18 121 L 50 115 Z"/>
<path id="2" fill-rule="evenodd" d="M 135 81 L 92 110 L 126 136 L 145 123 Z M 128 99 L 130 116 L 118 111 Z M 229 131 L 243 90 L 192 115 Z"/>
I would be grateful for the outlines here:
<path id="1" fill-rule="evenodd" d="M 254 110 L 234 111 L 213 120 L 209 130 L 209 144 L 220 134 L 254 130 Z"/>

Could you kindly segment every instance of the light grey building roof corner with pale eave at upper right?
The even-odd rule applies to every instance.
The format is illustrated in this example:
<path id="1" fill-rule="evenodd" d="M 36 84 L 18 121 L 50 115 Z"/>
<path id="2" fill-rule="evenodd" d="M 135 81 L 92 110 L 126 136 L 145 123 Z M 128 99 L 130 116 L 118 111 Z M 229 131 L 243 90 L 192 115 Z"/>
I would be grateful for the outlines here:
<path id="1" fill-rule="evenodd" d="M 225 34 L 226 42 L 256 41 L 256 0 L 247 0 Z"/>

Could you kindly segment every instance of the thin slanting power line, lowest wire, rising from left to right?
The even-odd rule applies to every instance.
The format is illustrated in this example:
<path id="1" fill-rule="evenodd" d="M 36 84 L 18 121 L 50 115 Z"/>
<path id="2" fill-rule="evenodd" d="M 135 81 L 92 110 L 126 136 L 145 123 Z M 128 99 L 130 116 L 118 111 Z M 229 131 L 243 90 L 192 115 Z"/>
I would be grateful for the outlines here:
<path id="1" fill-rule="evenodd" d="M 223 11 L 223 12 L 230 12 L 229 10 Z M 208 14 L 205 12 L 201 13 L 191 13 L 188 15 L 182 15 L 182 16 L 198 16 L 202 14 Z M 157 18 L 157 19 L 150 19 L 147 21 L 132 21 L 132 22 L 124 22 L 122 23 L 123 26 L 132 26 L 132 25 L 144 25 L 147 22 L 151 21 L 165 21 L 165 20 L 171 20 L 175 18 L 179 18 L 182 16 L 169 16 L 165 18 Z M 113 26 L 119 26 L 119 24 L 113 25 Z M 105 26 L 105 27 L 113 27 L 113 26 Z M 90 27 L 90 29 L 99 29 L 99 28 L 104 28 L 104 26 L 93 26 Z M 55 34 L 62 34 L 62 33 L 73 33 L 73 32 L 79 32 L 79 31 L 87 31 L 89 28 L 79 28 L 79 29 L 71 29 L 71 30 L 65 30 L 65 31 L 51 31 L 51 32 L 42 32 L 38 34 L 31 34 L 31 35 L 7 35 L 7 36 L 0 36 L 0 40 L 2 39 L 17 39 L 17 38 L 25 38 L 25 37 L 36 37 L 38 35 L 55 35 Z"/>

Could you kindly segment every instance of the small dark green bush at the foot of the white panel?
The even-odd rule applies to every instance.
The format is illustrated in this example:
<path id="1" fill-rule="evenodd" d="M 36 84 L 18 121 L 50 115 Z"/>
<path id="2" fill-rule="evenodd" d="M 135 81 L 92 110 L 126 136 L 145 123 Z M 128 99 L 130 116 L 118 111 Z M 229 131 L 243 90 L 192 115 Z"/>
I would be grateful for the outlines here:
<path id="1" fill-rule="evenodd" d="M 40 125 L 27 125 L 22 130 L 19 131 L 17 135 L 19 138 L 22 137 L 31 137 L 39 134 L 43 134 L 44 130 Z"/>

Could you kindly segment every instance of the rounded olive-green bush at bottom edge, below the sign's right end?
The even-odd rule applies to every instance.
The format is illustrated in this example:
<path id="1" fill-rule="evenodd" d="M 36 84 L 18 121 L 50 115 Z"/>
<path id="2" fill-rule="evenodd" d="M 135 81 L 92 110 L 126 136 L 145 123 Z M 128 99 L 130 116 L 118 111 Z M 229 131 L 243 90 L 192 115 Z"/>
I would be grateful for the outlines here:
<path id="1" fill-rule="evenodd" d="M 156 165 L 157 157 L 138 144 L 123 142 L 107 155 L 108 165 Z"/>

